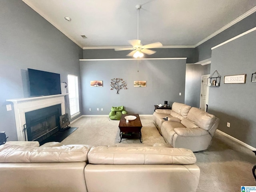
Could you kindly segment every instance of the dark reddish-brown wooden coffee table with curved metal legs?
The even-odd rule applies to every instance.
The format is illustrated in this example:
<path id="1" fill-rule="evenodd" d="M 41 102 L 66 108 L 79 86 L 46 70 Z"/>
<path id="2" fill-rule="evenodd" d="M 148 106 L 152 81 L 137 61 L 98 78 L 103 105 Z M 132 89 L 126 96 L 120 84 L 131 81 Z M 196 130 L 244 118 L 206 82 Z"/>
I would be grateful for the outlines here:
<path id="1" fill-rule="evenodd" d="M 128 115 L 133 115 L 137 118 L 126 123 L 124 117 Z M 141 142 L 142 124 L 140 122 L 139 114 L 122 114 L 118 127 L 120 129 L 120 142 L 122 141 L 122 138 L 139 138 Z"/>

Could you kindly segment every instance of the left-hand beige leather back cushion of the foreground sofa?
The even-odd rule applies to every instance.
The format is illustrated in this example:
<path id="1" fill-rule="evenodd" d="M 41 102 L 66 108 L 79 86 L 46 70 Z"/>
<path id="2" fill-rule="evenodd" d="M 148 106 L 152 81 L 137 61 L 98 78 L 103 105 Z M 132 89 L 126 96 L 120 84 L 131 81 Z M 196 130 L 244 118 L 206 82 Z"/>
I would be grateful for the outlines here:
<path id="1" fill-rule="evenodd" d="M 31 147 L 4 144 L 0 146 L 1 163 L 87 162 L 86 145 Z"/>

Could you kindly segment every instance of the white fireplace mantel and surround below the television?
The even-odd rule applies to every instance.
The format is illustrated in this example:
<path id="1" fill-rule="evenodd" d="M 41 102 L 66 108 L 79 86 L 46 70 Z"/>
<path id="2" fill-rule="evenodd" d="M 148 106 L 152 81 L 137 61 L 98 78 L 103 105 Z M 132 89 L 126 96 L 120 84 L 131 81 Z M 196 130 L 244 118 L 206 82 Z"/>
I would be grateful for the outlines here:
<path id="1" fill-rule="evenodd" d="M 63 115 L 63 114 L 65 114 L 65 98 L 64 98 L 64 96 L 66 96 L 66 95 L 68 95 L 68 94 L 6 100 L 8 102 L 13 103 L 18 141 L 25 141 L 23 126 L 24 126 L 24 124 L 26 124 L 26 119 L 25 119 L 26 112 L 54 106 L 57 104 L 61 104 L 61 114 Z"/>

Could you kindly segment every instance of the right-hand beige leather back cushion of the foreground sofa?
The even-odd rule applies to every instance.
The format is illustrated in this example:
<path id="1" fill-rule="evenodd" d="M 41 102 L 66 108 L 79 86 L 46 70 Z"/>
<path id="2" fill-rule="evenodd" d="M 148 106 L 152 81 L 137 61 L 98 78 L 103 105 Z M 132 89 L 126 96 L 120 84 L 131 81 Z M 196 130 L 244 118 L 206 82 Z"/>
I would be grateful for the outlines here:
<path id="1" fill-rule="evenodd" d="M 89 164 L 194 164 L 193 152 L 166 147 L 92 147 Z"/>

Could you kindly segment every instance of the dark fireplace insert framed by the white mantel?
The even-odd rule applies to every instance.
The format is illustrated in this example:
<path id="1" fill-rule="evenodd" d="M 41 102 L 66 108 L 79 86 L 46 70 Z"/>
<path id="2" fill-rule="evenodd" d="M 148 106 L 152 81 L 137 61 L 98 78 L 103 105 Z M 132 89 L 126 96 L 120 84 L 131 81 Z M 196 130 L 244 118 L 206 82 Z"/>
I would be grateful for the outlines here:
<path id="1" fill-rule="evenodd" d="M 28 141 L 42 142 L 60 130 L 61 105 L 25 113 Z"/>

